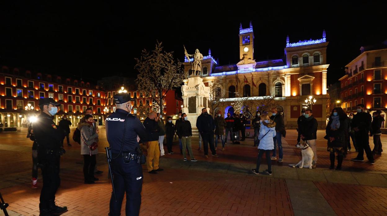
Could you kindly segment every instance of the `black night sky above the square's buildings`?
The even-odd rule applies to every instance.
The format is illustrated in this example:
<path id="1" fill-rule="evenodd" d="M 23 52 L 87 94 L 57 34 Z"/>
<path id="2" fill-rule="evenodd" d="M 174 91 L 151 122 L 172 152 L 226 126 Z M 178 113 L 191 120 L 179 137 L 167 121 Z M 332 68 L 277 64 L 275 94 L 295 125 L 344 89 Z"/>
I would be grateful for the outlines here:
<path id="1" fill-rule="evenodd" d="M 291 1 L 260 1 L 256 5 L 8 2 L 0 7 L 2 65 L 88 80 L 110 75 L 135 78 L 134 58 L 144 48 L 153 49 L 156 40 L 180 60 L 185 44 L 188 53 L 199 48 L 207 55 L 211 48 L 221 65 L 237 63 L 239 23 L 246 28 L 250 20 L 256 60 L 283 58 L 288 34 L 291 42 L 319 39 L 325 29 L 328 84 L 344 75 L 342 68 L 360 54 L 360 46 L 387 39 L 386 3 L 351 6 L 322 2 L 301 7 L 302 2 L 294 1 L 293 6 Z"/>

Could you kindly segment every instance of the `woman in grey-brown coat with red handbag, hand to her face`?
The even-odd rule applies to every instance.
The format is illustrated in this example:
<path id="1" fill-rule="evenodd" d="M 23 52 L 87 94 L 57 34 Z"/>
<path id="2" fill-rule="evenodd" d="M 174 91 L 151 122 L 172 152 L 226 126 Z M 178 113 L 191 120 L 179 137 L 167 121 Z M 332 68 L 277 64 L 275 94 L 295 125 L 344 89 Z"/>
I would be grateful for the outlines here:
<path id="1" fill-rule="evenodd" d="M 85 184 L 94 184 L 98 179 L 94 177 L 96 154 L 98 154 L 97 138 L 99 129 L 93 129 L 93 117 L 89 114 L 80 119 L 80 154 L 83 155 L 83 175 Z"/>

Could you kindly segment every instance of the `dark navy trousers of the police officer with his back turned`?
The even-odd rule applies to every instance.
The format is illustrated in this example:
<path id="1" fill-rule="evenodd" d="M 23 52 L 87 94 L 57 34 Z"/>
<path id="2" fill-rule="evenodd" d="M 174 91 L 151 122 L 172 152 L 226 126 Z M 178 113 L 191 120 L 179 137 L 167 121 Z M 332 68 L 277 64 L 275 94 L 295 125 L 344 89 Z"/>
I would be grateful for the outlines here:
<path id="1" fill-rule="evenodd" d="M 125 163 L 123 158 L 111 160 L 111 172 L 116 191 L 117 202 L 114 194 L 110 198 L 110 216 L 121 215 L 123 195 L 126 193 L 127 216 L 137 216 L 140 213 L 141 189 L 142 189 L 142 167 L 135 160 Z"/>

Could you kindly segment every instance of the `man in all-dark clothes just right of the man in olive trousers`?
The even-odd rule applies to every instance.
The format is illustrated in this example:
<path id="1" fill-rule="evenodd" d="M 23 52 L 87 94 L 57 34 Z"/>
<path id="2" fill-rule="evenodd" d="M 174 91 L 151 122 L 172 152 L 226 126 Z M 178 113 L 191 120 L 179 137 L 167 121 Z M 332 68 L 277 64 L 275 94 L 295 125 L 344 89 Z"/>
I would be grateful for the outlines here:
<path id="1" fill-rule="evenodd" d="M 214 130 L 215 130 L 215 122 L 211 115 L 208 114 L 207 109 L 202 109 L 202 114 L 197 117 L 196 120 L 196 128 L 199 130 L 200 135 L 203 139 L 203 148 L 204 148 L 204 156 L 208 158 L 208 143 L 210 145 L 212 156 L 219 157 L 216 154 L 215 146 L 214 146 Z"/>

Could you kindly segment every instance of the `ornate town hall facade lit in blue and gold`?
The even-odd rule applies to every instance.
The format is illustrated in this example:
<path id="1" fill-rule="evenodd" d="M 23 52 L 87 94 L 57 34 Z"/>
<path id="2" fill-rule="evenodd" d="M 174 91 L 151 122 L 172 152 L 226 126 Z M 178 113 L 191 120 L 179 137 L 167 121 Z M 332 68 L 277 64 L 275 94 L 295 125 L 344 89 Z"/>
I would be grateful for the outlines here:
<path id="1" fill-rule="evenodd" d="M 254 60 L 253 26 L 243 29 L 240 26 L 239 46 L 240 60 L 236 64 L 218 65 L 211 56 L 202 60 L 200 77 L 206 86 L 217 83 L 227 105 L 220 108 L 222 113 L 234 112 L 232 103 L 236 94 L 247 100 L 259 100 L 264 96 L 272 96 L 278 102 L 277 109 L 284 115 L 287 128 L 296 128 L 297 118 L 305 109 L 305 99 L 312 96 L 315 104 L 307 105 L 313 109 L 313 116 L 319 122 L 319 128 L 325 128 L 327 117 L 327 68 L 325 31 L 321 39 L 298 41 L 291 43 L 286 38 L 284 58 L 274 60 Z M 185 59 L 185 70 L 192 76 L 191 65 Z M 188 80 L 185 80 L 187 85 Z M 184 98 L 188 101 L 188 98 Z M 204 103 L 205 104 L 205 103 Z M 185 104 L 185 107 L 187 104 Z"/>

